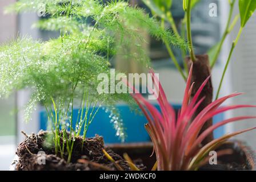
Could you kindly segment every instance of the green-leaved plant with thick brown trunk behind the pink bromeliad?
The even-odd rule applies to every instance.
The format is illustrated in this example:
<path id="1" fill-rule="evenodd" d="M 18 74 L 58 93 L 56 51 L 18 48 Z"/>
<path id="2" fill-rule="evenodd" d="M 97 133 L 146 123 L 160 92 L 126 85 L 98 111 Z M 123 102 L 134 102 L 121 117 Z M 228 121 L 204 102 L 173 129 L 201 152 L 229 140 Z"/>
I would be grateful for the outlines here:
<path id="1" fill-rule="evenodd" d="M 217 59 L 219 57 L 219 54 L 221 52 L 223 43 L 225 42 L 225 39 L 227 38 L 227 35 L 230 34 L 231 31 L 233 31 L 233 28 L 235 24 L 237 24 L 239 16 L 241 19 L 241 28 L 238 32 L 237 38 L 234 40 L 229 56 L 227 57 L 227 61 L 225 64 L 225 68 L 222 73 L 222 78 L 219 83 L 217 94 L 215 97 L 215 100 L 219 97 L 219 92 L 221 90 L 223 78 L 225 76 L 227 67 L 229 65 L 231 56 L 233 54 L 233 51 L 235 49 L 235 46 L 238 43 L 238 40 L 242 34 L 243 27 L 246 26 L 247 21 L 250 19 L 251 15 L 254 13 L 256 9 L 256 3 L 255 1 L 244 1 L 244 0 L 229 0 L 229 17 L 226 22 L 226 28 L 223 32 L 222 38 L 219 43 L 217 43 L 213 48 L 209 50 L 209 52 L 206 55 L 195 55 L 194 48 L 193 48 L 193 40 L 191 35 L 191 11 L 193 8 L 197 5 L 197 3 L 200 2 L 200 0 L 184 0 L 183 1 L 183 10 L 184 10 L 184 18 L 179 23 L 179 27 L 181 27 L 181 31 L 178 31 L 177 23 L 173 19 L 173 14 L 171 13 L 171 6 L 173 5 L 173 1 L 162 1 L 162 0 L 143 0 L 145 5 L 147 5 L 151 12 L 158 17 L 159 21 L 162 22 L 162 27 L 165 27 L 165 23 L 169 23 L 172 30 L 174 31 L 177 38 L 187 38 L 187 42 L 189 43 L 189 57 L 186 57 L 186 52 L 181 51 L 182 59 L 183 59 L 183 68 L 178 63 L 177 57 L 174 56 L 174 53 L 172 51 L 172 48 L 169 46 L 169 44 L 165 44 L 167 51 L 169 52 L 169 55 L 171 57 L 171 60 L 174 62 L 175 67 L 177 67 L 179 73 L 181 73 L 181 76 L 186 81 L 188 68 L 190 67 L 191 63 L 194 64 L 194 72 L 192 76 L 192 80 L 197 83 L 197 86 L 201 85 L 203 81 L 211 74 L 211 69 L 214 68 L 215 63 L 217 62 Z M 238 3 L 239 5 L 239 15 L 236 15 L 235 18 L 232 20 L 232 16 L 234 14 L 234 6 Z M 194 90 L 192 92 L 192 96 L 197 92 L 198 87 L 195 86 Z M 202 102 L 201 106 L 198 107 L 198 110 L 196 111 L 195 115 L 197 115 L 203 107 L 209 105 L 213 101 L 213 86 L 211 84 L 211 81 L 207 83 L 207 86 L 203 89 L 202 95 L 206 97 L 206 99 Z M 203 126 L 202 131 L 205 130 L 206 127 L 209 127 L 212 125 L 212 119 L 210 118 L 209 121 L 205 123 L 205 126 Z M 205 140 L 203 140 L 203 143 L 207 143 L 213 140 L 213 134 L 210 134 L 208 137 L 206 137 Z"/>

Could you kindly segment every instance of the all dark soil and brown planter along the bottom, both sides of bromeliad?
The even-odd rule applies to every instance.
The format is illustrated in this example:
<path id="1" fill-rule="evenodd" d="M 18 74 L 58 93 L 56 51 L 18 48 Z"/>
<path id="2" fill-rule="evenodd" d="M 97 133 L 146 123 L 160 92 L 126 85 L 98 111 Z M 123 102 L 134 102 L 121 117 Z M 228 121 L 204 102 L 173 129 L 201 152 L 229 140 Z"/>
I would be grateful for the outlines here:
<path id="1" fill-rule="evenodd" d="M 71 163 L 67 164 L 67 154 L 64 159 L 55 155 L 53 145 L 46 147 L 47 132 L 41 131 L 32 134 L 19 144 L 16 154 L 19 159 L 15 163 L 16 169 L 26 170 L 65 170 L 65 171 L 98 171 L 118 170 L 114 163 L 102 152 L 104 148 L 123 170 L 130 170 L 125 160 L 121 157 L 125 152 L 134 159 L 134 164 L 141 170 L 150 170 L 156 159 L 150 157 L 153 150 L 151 143 L 118 144 L 104 147 L 103 138 L 96 136 L 88 138 L 82 146 L 82 138 L 76 138 Z M 111 149 L 110 149 L 111 148 Z M 224 143 L 218 150 L 232 150 L 233 154 L 218 157 L 217 165 L 207 164 L 199 168 L 201 171 L 230 171 L 230 170 L 255 170 L 256 158 L 254 152 L 245 143 L 234 140 Z M 217 151 L 218 151 L 217 150 Z M 46 153 L 46 164 L 38 164 L 39 151 Z M 145 164 L 145 166 L 143 165 Z"/>

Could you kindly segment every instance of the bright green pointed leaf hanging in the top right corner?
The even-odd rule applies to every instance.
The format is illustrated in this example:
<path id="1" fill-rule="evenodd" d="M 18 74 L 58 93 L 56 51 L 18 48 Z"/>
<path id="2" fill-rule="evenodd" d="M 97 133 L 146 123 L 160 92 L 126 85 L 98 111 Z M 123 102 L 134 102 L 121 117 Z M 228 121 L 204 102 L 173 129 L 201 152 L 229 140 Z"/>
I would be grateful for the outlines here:
<path id="1" fill-rule="evenodd" d="M 245 27 L 245 24 L 253 15 L 256 9 L 255 0 L 239 0 L 239 11 L 241 16 L 241 27 Z"/>

